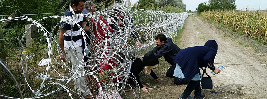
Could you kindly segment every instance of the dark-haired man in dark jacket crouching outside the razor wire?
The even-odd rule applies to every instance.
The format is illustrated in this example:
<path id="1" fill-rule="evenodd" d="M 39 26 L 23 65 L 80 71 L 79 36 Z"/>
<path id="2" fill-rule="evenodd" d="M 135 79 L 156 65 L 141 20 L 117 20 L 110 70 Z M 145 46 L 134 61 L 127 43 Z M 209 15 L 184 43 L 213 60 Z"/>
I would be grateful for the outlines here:
<path id="1" fill-rule="evenodd" d="M 154 54 L 157 59 L 163 56 L 165 61 L 172 65 L 167 71 L 166 76 L 174 77 L 174 69 L 172 70 L 172 67 L 174 64 L 175 56 L 181 49 L 172 42 L 171 38 L 166 38 L 164 34 L 158 34 L 155 37 L 155 40 L 157 46 L 152 51 L 146 53 L 144 56 Z"/>

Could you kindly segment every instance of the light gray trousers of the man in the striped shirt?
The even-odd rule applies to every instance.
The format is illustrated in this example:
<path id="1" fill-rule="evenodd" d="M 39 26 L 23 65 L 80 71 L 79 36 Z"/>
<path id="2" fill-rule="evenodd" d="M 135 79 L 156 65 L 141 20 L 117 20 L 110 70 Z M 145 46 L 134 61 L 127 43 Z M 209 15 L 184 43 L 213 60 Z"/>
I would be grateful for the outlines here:
<path id="1" fill-rule="evenodd" d="M 72 63 L 72 70 L 75 72 L 78 70 L 78 74 L 74 75 L 74 77 L 78 77 L 79 74 L 84 73 L 84 67 L 83 65 L 81 68 L 78 68 L 79 65 L 81 65 L 83 54 L 82 54 L 82 46 L 76 47 L 76 48 L 64 48 L 65 53 L 67 56 L 67 59 L 70 59 L 69 61 Z M 80 93 L 83 93 L 83 96 L 89 95 L 91 92 L 88 89 L 87 82 L 85 76 L 81 76 L 77 79 L 74 79 L 74 84 L 77 88 L 77 91 Z"/>

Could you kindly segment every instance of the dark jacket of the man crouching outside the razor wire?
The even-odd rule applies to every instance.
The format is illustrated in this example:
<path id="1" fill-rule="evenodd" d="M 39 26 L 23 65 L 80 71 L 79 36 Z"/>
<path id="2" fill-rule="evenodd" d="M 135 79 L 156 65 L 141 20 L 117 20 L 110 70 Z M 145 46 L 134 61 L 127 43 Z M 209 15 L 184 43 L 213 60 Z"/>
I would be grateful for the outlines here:
<path id="1" fill-rule="evenodd" d="M 166 42 L 161 47 L 156 46 L 152 51 L 146 53 L 144 56 L 154 54 L 157 59 L 164 56 L 165 61 L 172 65 L 174 63 L 175 56 L 180 50 L 181 49 L 172 42 L 171 38 L 167 38 Z"/>

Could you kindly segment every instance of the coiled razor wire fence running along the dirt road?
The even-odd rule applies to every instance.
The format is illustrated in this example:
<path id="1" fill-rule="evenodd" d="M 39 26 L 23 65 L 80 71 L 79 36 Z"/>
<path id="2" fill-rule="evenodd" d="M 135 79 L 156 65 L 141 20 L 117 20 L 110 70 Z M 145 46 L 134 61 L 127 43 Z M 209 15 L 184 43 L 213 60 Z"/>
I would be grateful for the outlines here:
<path id="1" fill-rule="evenodd" d="M 123 18 L 118 17 L 115 13 L 118 13 Z M 138 89 L 139 85 L 136 78 L 129 76 L 131 63 L 134 61 L 135 56 L 140 54 L 142 51 L 149 51 L 151 47 L 154 47 L 154 37 L 158 34 L 165 34 L 166 37 L 175 38 L 177 36 L 177 32 L 182 29 L 184 21 L 188 15 L 189 14 L 186 12 L 166 13 L 164 11 L 135 10 L 122 6 L 112 6 L 105 8 L 101 12 L 83 13 L 72 16 L 47 16 L 39 20 L 34 20 L 25 15 L 1 19 L 0 22 L 20 20 L 32 22 L 32 26 L 36 25 L 37 28 L 42 31 L 42 36 L 46 38 L 48 48 L 47 56 L 44 57 L 48 57 L 47 59 L 49 60 L 49 63 L 42 72 L 35 70 L 34 66 L 27 63 L 28 56 L 23 54 L 23 52 L 25 52 L 25 44 L 23 44 L 23 42 L 26 35 L 22 35 L 22 38 L 19 39 L 21 49 L 20 66 L 23 71 L 25 86 L 28 86 L 29 90 L 34 95 L 29 97 L 23 96 L 22 89 L 18 86 L 20 96 L 11 97 L 0 95 L 0 97 L 14 99 L 44 98 L 55 94 L 58 91 L 63 91 L 71 99 L 73 99 L 72 93 L 78 95 L 80 98 L 83 98 L 83 92 L 79 89 L 81 87 L 79 85 L 81 84 L 77 84 L 83 83 L 82 85 L 86 85 L 86 90 L 91 91 L 91 93 L 95 92 L 92 95 L 95 99 L 120 98 L 121 94 L 125 94 L 124 90 L 126 87 L 130 88 L 134 92 L 132 96 L 127 96 L 125 94 L 127 98 L 139 98 L 140 89 Z M 100 16 L 104 19 L 100 19 Z M 81 31 L 83 36 L 82 40 L 85 43 L 86 38 L 90 38 L 90 42 L 92 44 L 90 47 L 91 50 L 88 47 L 85 47 L 84 51 L 90 51 L 92 53 L 91 56 L 86 56 L 86 53 L 82 52 L 76 53 L 74 56 L 79 64 L 73 63 L 68 56 L 65 57 L 65 62 L 59 60 L 59 54 L 63 54 L 63 51 L 60 49 L 58 43 L 59 33 L 57 36 L 53 36 L 53 31 L 57 31 L 56 29 L 60 26 L 60 24 L 61 27 L 66 24 L 78 24 L 77 20 L 80 20 L 83 17 L 90 19 L 86 22 L 86 24 L 92 23 L 92 30 L 90 32 L 92 35 L 89 36 L 89 34 L 84 31 L 85 26 L 77 26 Z M 44 26 L 42 26 L 42 24 L 40 24 L 40 21 L 56 18 L 61 19 L 61 21 L 56 22 L 51 31 L 47 30 Z M 103 20 L 105 20 L 108 24 L 113 24 L 114 27 L 118 27 L 118 29 L 110 29 L 109 25 L 107 25 Z M 71 26 L 71 36 L 73 36 L 73 32 L 77 31 L 73 29 L 75 29 L 74 25 Z M 27 32 L 29 30 L 25 31 Z M 60 29 L 58 31 L 60 31 Z M 73 41 L 72 38 L 71 41 Z M 137 47 L 138 43 L 141 44 L 140 47 Z M 73 44 L 74 43 L 72 43 L 72 45 Z M 73 47 L 69 50 L 75 52 L 78 49 Z M 78 59 L 78 54 L 83 55 L 81 60 Z M 85 60 L 85 58 L 88 58 L 89 60 Z M 19 85 L 15 76 L 10 72 L 8 67 L 5 66 L 2 61 L 0 61 L 0 63 L 6 71 L 8 71 L 9 75 L 11 75 L 16 85 Z M 76 65 L 78 68 L 71 68 L 69 66 L 71 64 Z M 37 74 L 39 77 L 42 77 L 42 80 L 39 83 L 36 83 L 39 84 L 39 88 L 33 88 L 33 85 L 29 83 L 29 81 L 34 82 L 34 80 L 27 77 L 28 69 Z M 61 70 L 65 72 L 62 73 Z M 49 76 L 52 75 L 52 73 L 54 76 Z M 88 75 L 88 81 L 75 82 L 75 84 L 73 84 L 73 80 L 86 77 L 86 75 Z M 129 80 L 133 80 L 135 85 L 128 84 Z M 75 90 L 73 90 L 73 86 L 69 86 L 70 84 L 75 85 Z"/>

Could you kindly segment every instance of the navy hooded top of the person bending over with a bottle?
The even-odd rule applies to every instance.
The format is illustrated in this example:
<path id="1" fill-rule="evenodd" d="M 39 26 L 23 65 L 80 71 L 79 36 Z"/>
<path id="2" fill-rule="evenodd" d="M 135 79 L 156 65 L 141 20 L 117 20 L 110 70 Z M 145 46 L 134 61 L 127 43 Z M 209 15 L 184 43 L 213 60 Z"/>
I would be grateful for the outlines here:
<path id="1" fill-rule="evenodd" d="M 175 57 L 172 73 L 178 64 L 186 79 L 189 81 L 200 73 L 199 68 L 208 66 L 212 71 L 215 70 L 213 65 L 217 54 L 218 45 L 215 40 L 209 40 L 204 46 L 188 47 L 181 50 Z"/>

